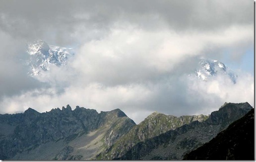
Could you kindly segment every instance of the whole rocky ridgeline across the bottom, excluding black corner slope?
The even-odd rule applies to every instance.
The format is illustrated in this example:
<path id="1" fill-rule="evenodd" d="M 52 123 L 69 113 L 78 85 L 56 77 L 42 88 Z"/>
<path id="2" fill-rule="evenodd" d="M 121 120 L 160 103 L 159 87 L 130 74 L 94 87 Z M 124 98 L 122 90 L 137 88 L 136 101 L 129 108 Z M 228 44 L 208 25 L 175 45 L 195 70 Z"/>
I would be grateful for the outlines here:
<path id="1" fill-rule="evenodd" d="M 136 125 L 120 109 L 29 108 L 0 115 L 0 160 L 182 160 L 251 109 L 225 103 L 210 116 L 155 112 Z"/>

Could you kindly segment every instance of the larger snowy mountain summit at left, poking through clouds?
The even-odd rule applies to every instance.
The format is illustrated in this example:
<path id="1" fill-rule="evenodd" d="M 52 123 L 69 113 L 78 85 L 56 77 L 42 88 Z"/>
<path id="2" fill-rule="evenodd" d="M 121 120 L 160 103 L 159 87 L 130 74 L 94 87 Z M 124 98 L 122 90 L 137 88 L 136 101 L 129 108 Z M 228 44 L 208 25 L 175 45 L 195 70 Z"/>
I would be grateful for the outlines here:
<path id="1" fill-rule="evenodd" d="M 58 67 L 66 65 L 67 59 L 74 54 L 72 48 L 49 45 L 43 40 L 27 43 L 27 53 L 29 59 L 26 64 L 31 68 L 28 74 L 32 76 L 48 71 L 51 64 Z"/>

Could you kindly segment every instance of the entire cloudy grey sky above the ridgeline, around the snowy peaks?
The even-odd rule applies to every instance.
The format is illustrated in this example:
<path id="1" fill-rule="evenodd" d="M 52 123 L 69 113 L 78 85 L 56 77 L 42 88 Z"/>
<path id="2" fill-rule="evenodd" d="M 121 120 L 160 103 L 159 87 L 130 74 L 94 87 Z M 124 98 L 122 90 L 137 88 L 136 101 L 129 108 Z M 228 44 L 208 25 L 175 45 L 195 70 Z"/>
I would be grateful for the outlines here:
<path id="1" fill-rule="evenodd" d="M 253 34 L 252 0 L 1 0 L 0 113 L 70 104 L 120 108 L 140 122 L 153 111 L 192 115 L 224 102 L 253 104 L 254 76 L 243 69 L 247 77 L 236 85 L 186 78 L 200 57 L 243 63 Z M 32 79 L 20 59 L 33 39 L 77 53 L 67 67 Z M 225 51 L 234 52 L 227 58 Z"/>

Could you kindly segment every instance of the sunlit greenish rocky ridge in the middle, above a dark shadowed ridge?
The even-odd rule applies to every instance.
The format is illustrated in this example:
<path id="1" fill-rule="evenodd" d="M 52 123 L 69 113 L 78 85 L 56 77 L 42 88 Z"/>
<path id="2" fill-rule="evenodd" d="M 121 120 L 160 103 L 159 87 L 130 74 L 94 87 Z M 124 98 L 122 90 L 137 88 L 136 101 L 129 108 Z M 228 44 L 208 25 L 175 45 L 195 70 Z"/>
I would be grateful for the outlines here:
<path id="1" fill-rule="evenodd" d="M 117 140 L 117 142 L 108 147 L 101 154 L 97 155 L 97 160 L 111 160 L 122 157 L 138 142 L 144 141 L 168 130 L 176 129 L 184 124 L 189 124 L 193 121 L 204 121 L 208 116 L 181 116 L 175 117 L 154 112 L 149 115 L 143 122 L 134 126 L 126 135 Z"/>

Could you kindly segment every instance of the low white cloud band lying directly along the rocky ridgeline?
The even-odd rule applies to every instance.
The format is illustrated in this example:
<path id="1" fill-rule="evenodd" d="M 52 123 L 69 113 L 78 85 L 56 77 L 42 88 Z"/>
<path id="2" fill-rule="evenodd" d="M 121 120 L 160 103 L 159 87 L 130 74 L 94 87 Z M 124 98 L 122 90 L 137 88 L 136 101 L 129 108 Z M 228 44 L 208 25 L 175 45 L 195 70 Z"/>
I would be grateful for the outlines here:
<path id="1" fill-rule="evenodd" d="M 82 82 L 81 82 L 82 84 Z M 165 114 L 199 115 L 216 111 L 224 102 L 249 102 L 254 106 L 254 79 L 241 76 L 233 84 L 226 76 L 209 81 L 187 75 L 150 83 L 106 86 L 100 83 L 70 85 L 58 94 L 55 88 L 28 91 L 6 98 L 5 113 L 20 112 L 30 105 L 39 112 L 70 104 L 100 111 L 123 110 L 136 123 L 154 111 Z"/>

